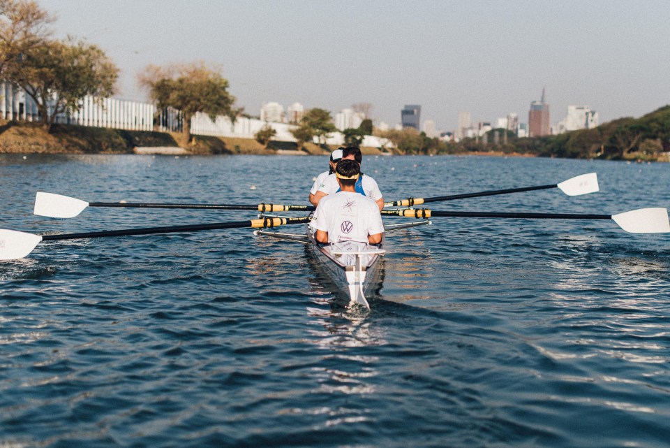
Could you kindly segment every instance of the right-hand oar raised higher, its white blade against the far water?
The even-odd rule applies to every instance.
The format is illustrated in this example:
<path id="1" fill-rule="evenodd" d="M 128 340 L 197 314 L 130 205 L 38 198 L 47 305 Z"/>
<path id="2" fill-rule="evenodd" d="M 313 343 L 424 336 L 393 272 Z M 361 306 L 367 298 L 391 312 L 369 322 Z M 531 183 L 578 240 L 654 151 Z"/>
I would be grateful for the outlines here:
<path id="1" fill-rule="evenodd" d="M 521 187 L 505 190 L 491 190 L 490 192 L 452 194 L 449 196 L 435 196 L 433 198 L 407 198 L 402 201 L 384 203 L 385 207 L 411 207 L 427 202 L 453 201 L 454 199 L 480 198 L 482 196 L 496 196 L 498 194 L 511 194 L 521 192 L 533 192 L 534 190 L 545 190 L 558 188 L 568 196 L 579 196 L 580 194 L 594 193 L 598 191 L 598 178 L 596 173 L 578 175 L 574 178 L 564 180 L 560 184 L 537 185 L 536 187 Z"/>

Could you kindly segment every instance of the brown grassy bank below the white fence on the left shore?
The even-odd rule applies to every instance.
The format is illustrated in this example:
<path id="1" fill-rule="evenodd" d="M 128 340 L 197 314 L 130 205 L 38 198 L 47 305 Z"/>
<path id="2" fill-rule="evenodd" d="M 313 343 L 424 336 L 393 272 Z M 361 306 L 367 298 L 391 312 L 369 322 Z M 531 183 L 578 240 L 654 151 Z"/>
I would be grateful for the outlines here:
<path id="1" fill-rule="evenodd" d="M 329 154 L 335 147 L 306 143 L 297 152 L 292 142 L 270 142 L 267 148 L 253 138 L 195 136 L 188 143 L 181 133 L 126 131 L 55 124 L 47 133 L 35 123 L 1 122 L 0 152 L 15 154 L 133 154 L 135 147 L 181 147 L 191 154 Z M 362 148 L 364 154 L 379 154 L 377 148 Z"/>

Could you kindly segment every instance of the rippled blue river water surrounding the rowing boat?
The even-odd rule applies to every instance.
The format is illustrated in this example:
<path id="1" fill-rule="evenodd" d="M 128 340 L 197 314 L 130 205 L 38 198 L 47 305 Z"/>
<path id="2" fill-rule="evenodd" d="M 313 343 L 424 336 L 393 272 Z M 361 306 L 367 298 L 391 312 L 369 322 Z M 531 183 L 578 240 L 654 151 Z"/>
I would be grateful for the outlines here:
<path id="1" fill-rule="evenodd" d="M 251 219 L 31 212 L 38 190 L 304 203 L 326 164 L 1 155 L 0 227 Z M 664 164 L 366 157 L 363 168 L 387 200 L 600 178 L 588 196 L 551 189 L 434 210 L 614 214 L 670 199 Z M 248 229 L 45 242 L 0 262 L 0 447 L 668 446 L 670 236 L 611 221 L 433 218 L 389 234 L 387 249 L 368 313 L 332 305 L 306 247 Z"/>

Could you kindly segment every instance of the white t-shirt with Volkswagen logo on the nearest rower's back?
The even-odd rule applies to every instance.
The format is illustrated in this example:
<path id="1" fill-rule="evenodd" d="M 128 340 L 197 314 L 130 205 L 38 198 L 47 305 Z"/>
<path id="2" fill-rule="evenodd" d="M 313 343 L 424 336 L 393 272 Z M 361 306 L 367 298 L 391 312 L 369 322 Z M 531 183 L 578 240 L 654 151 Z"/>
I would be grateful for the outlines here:
<path id="1" fill-rule="evenodd" d="M 338 192 L 321 199 L 311 226 L 328 232 L 329 243 L 368 242 L 368 235 L 382 233 L 382 215 L 375 201 L 359 193 Z"/>

